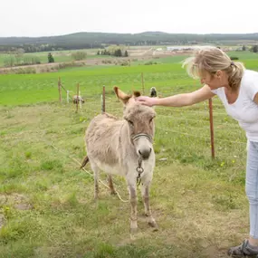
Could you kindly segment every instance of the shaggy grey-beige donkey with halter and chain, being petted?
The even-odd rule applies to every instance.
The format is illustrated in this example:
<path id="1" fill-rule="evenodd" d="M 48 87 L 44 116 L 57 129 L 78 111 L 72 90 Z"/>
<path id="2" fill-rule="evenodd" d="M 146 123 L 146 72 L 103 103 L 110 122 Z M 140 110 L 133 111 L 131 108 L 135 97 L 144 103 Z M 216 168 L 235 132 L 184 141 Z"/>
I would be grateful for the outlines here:
<path id="1" fill-rule="evenodd" d="M 87 156 L 81 167 L 88 161 L 94 172 L 95 199 L 99 194 L 99 172 L 109 175 L 111 194 L 116 194 L 111 175 L 126 178 L 130 202 L 130 233 L 138 229 L 137 218 L 137 181 L 141 182 L 141 195 L 148 225 L 158 230 L 149 205 L 149 187 L 155 167 L 155 152 L 152 141 L 155 133 L 153 108 L 135 100 L 139 91 L 128 95 L 114 87 L 114 91 L 124 105 L 123 119 L 103 113 L 91 120 L 86 129 L 85 142 Z"/>

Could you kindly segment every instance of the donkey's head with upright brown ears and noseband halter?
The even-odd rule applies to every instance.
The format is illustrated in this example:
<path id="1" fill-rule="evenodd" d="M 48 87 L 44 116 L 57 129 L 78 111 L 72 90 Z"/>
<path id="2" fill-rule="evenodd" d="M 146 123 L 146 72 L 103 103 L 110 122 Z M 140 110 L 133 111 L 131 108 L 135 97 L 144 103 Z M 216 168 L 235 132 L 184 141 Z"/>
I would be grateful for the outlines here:
<path id="1" fill-rule="evenodd" d="M 120 91 L 118 87 L 114 87 L 114 91 L 124 104 L 123 118 L 127 120 L 130 141 L 139 157 L 147 159 L 153 151 L 156 112 L 135 100 L 140 95 L 139 91 L 134 91 L 132 95 Z"/>

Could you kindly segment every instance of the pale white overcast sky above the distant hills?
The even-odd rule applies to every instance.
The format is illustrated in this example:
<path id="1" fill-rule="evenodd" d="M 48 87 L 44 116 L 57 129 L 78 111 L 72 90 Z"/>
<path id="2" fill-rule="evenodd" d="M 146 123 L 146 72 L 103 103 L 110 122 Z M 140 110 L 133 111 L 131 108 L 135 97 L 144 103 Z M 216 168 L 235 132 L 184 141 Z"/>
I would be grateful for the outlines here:
<path id="1" fill-rule="evenodd" d="M 258 33 L 258 0 L 1 0 L 0 36 Z"/>

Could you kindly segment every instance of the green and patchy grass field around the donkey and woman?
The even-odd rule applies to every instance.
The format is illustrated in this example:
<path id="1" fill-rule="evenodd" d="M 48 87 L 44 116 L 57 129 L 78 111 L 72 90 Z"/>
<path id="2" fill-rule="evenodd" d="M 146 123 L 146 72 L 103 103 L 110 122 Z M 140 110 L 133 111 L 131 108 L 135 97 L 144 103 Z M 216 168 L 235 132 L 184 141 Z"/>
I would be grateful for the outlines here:
<path id="1" fill-rule="evenodd" d="M 254 55 L 241 60 L 258 70 Z M 165 61 L 164 61 L 165 62 Z M 85 155 L 83 137 L 100 113 L 106 85 L 107 111 L 122 117 L 112 92 L 145 93 L 156 86 L 161 96 L 193 91 L 179 60 L 131 67 L 73 68 L 61 72 L 0 77 L 0 257 L 160 258 L 227 257 L 229 246 L 248 235 L 244 195 L 245 137 L 214 99 L 215 159 L 211 158 L 208 103 L 172 109 L 157 107 L 157 167 L 150 204 L 158 232 L 143 221 L 139 197 L 139 233 L 129 235 L 129 204 L 100 185 L 93 202 L 93 179 L 72 158 Z M 85 103 L 58 102 L 57 80 L 75 92 L 80 83 Z M 90 167 L 86 167 L 91 171 Z M 105 181 L 105 175 L 101 175 Z M 128 198 L 125 181 L 114 178 Z"/>

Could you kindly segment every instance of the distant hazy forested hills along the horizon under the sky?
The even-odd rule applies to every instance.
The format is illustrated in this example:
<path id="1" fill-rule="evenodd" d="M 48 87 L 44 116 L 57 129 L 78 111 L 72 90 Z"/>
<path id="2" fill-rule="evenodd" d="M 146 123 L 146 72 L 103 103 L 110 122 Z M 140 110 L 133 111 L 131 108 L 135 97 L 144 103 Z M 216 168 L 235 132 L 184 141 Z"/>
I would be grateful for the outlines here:
<path id="1" fill-rule="evenodd" d="M 125 45 L 191 45 L 197 43 L 222 43 L 258 41 L 258 33 L 249 34 L 176 34 L 147 33 L 73 33 L 52 37 L 0 38 L 0 52 L 14 52 L 23 48 L 25 53 L 53 52 L 79 49 L 104 49 L 110 44 Z"/>

